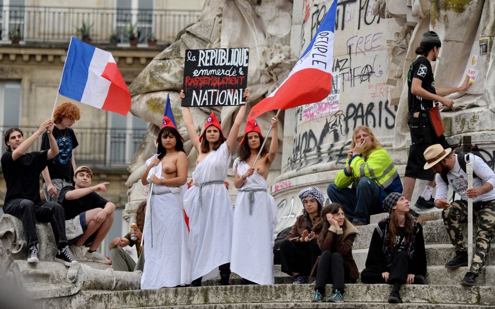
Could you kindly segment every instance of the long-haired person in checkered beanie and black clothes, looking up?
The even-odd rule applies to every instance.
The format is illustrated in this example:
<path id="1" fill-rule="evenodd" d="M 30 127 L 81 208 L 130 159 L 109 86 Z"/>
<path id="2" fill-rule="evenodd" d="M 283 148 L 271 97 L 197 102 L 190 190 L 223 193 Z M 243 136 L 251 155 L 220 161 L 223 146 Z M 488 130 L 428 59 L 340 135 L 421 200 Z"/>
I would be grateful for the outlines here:
<path id="1" fill-rule="evenodd" d="M 400 303 L 402 284 L 425 283 L 423 228 L 409 214 L 409 201 L 401 193 L 390 193 L 383 209 L 390 216 L 378 222 L 373 231 L 361 281 L 392 284 L 388 302 Z"/>

